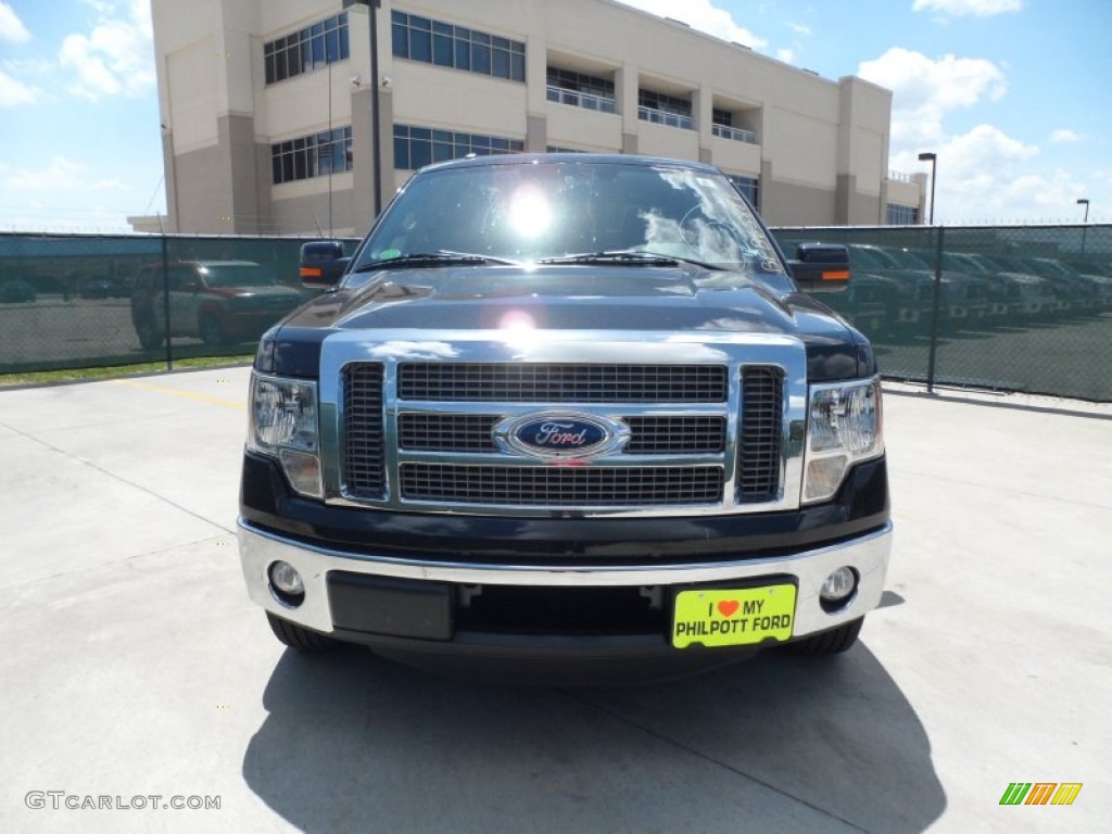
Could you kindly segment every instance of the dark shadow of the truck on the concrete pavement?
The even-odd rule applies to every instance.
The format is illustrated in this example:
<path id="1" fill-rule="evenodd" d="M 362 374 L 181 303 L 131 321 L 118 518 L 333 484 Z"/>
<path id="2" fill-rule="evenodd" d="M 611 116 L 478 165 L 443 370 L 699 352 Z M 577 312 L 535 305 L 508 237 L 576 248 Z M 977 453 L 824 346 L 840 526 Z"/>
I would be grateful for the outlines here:
<path id="1" fill-rule="evenodd" d="M 248 786 L 306 832 L 917 832 L 946 800 L 864 644 L 686 681 L 506 688 L 287 651 Z"/>

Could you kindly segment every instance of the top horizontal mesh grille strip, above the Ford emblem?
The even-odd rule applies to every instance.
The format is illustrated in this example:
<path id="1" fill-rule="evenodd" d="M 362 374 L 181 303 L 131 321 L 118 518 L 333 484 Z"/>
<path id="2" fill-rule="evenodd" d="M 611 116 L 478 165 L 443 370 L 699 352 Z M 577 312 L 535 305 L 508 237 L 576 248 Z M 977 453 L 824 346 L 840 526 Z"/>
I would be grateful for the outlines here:
<path id="1" fill-rule="evenodd" d="M 718 365 L 403 363 L 398 397 L 456 403 L 724 403 Z"/>

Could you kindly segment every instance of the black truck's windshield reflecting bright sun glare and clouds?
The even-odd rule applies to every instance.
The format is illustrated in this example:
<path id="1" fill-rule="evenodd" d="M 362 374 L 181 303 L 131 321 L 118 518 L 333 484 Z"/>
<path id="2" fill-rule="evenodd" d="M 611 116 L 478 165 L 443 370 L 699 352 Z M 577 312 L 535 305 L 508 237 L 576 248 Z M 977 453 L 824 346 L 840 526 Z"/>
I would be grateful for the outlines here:
<path id="1" fill-rule="evenodd" d="M 428 265 L 415 255 L 537 262 L 609 254 L 600 260 L 647 262 L 613 257 L 626 252 L 786 279 L 775 248 L 722 175 L 584 159 L 418 173 L 374 229 L 348 280 L 367 280 L 360 267 L 380 261 Z"/>

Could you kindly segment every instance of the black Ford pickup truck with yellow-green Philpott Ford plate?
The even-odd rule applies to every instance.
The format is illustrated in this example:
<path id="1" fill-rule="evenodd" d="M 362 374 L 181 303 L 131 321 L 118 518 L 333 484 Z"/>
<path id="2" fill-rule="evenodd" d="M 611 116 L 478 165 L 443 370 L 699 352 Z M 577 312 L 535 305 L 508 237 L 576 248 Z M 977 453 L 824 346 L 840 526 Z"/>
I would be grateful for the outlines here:
<path id="1" fill-rule="evenodd" d="M 328 251 L 251 375 L 278 639 L 592 682 L 853 645 L 892 528 L 873 351 L 812 295 L 843 247 L 787 259 L 709 166 L 536 155 L 426 168 Z"/>

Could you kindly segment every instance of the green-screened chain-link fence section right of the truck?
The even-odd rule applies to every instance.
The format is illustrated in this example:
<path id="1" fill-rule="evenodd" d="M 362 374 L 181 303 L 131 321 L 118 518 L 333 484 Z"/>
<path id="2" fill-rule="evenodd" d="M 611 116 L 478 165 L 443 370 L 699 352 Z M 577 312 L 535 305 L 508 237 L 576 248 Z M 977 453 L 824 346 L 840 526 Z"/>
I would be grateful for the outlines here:
<path id="1" fill-rule="evenodd" d="M 782 228 L 845 244 L 822 300 L 872 340 L 885 377 L 1112 400 L 1112 226 Z"/>

